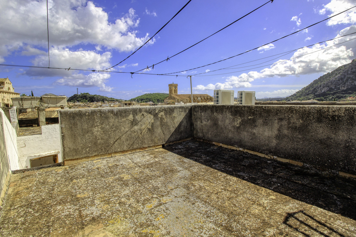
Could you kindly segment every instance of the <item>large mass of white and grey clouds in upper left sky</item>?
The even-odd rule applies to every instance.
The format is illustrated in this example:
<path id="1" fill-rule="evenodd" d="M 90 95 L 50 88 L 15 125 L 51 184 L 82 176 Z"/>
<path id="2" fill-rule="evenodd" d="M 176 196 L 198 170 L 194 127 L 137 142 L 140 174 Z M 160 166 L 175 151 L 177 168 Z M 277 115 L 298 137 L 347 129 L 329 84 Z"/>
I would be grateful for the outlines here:
<path id="1" fill-rule="evenodd" d="M 93 1 L 48 0 L 50 66 L 101 70 L 111 66 L 112 50 L 130 52 L 140 47 L 149 38 L 144 32 L 138 36 L 135 28 L 140 18 L 132 8 L 120 11 L 124 15 L 109 22 L 108 13 Z M 6 60 L 6 56 L 20 52 L 25 56 L 35 56 L 31 61 L 33 65 L 48 67 L 46 0 L 0 0 L 0 22 L 6 22 L 0 24 L 0 63 Z M 148 44 L 154 42 L 153 39 Z M 78 49 L 78 45 L 91 45 L 94 50 Z M 34 78 L 63 76 L 63 80 L 82 75 L 84 79 L 80 82 L 93 80 L 91 73 L 76 74 L 73 70 L 32 68 L 24 74 Z M 111 90 L 103 82 L 85 85 Z"/>

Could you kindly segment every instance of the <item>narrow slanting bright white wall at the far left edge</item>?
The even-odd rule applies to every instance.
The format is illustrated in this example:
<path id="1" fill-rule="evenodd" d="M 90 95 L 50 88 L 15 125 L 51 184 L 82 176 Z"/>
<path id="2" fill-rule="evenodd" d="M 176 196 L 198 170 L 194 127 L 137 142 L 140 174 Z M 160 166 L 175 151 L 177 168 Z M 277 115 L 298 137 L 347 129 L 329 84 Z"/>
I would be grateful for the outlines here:
<path id="1" fill-rule="evenodd" d="M 16 170 L 19 169 L 19 156 L 16 144 L 16 130 L 12 127 L 9 119 L 7 119 L 2 109 L 0 109 L 0 116 L 2 116 L 3 121 L 2 125 L 4 127 L 5 146 L 7 150 L 7 155 L 9 156 L 10 169 Z"/>

